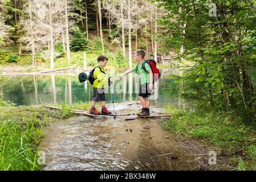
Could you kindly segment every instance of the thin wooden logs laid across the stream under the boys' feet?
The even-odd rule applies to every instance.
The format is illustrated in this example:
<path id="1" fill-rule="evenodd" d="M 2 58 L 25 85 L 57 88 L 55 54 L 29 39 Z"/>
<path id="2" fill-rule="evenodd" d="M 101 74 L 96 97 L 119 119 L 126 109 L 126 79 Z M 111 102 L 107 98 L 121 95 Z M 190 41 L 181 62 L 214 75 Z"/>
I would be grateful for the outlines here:
<path id="1" fill-rule="evenodd" d="M 62 108 L 59 107 L 54 107 L 54 106 L 43 106 L 46 108 L 50 108 L 50 109 L 57 109 L 57 110 L 62 110 Z M 81 114 L 81 115 L 87 115 L 90 117 L 113 117 L 113 114 L 111 115 L 94 115 L 94 114 L 90 114 L 87 113 L 87 111 L 84 110 L 78 110 L 78 109 L 71 109 L 73 111 L 74 114 Z M 157 114 L 157 115 L 145 115 L 145 116 L 137 116 L 135 114 L 131 115 L 131 114 L 115 114 L 116 117 L 129 117 L 129 118 L 155 118 L 155 117 L 170 117 L 170 114 Z"/>

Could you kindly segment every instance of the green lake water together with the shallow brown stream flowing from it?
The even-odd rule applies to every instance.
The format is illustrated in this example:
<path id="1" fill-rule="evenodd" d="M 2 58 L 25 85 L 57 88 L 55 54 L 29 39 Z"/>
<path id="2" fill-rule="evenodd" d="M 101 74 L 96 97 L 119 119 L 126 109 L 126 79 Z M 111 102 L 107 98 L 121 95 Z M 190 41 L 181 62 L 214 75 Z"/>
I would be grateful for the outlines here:
<path id="1" fill-rule="evenodd" d="M 178 69 L 161 71 L 159 93 L 154 99 L 152 111 L 163 111 L 168 103 L 182 107 L 173 93 L 172 99 L 162 93 L 166 85 L 174 84 L 170 74 L 180 75 Z M 108 75 L 113 75 L 109 72 Z M 115 74 L 118 74 L 115 73 Z M 79 83 L 78 75 L 48 74 L 18 76 L 0 84 L 5 101 L 17 105 L 60 104 L 91 101 L 92 88 L 88 82 Z M 120 87 L 121 85 L 121 87 Z M 117 113 L 135 113 L 141 105 L 137 102 L 135 77 L 116 82 L 115 109 Z M 1 96 L 1 95 L 0 95 Z M 111 102 L 111 93 L 106 94 Z M 109 104 L 112 110 L 112 104 Z M 163 118 L 139 118 L 125 121 L 122 117 L 88 118 L 76 116 L 61 119 L 44 129 L 45 137 L 40 150 L 46 152 L 45 170 L 184 170 L 197 164 L 193 158 L 182 156 L 190 151 L 180 146 L 176 135 L 161 128 Z M 173 153 L 169 155 L 162 155 Z M 161 156 L 158 156 L 161 155 Z"/>

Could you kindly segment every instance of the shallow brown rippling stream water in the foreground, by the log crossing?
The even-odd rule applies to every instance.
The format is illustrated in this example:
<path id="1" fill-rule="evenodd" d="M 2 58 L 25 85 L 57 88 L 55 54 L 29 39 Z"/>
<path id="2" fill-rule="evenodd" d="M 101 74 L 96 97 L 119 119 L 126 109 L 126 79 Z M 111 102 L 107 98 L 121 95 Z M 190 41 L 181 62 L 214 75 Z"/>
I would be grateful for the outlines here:
<path id="1" fill-rule="evenodd" d="M 119 113 L 138 105 L 118 104 Z M 109 106 L 109 109 L 111 107 Z M 158 110 L 160 111 L 160 110 Z M 175 135 L 162 130 L 161 119 L 73 117 L 47 127 L 40 144 L 46 151 L 45 170 L 189 170 L 193 158 Z M 46 150 L 47 148 L 47 150 Z M 178 159 L 172 159 L 175 156 Z"/>

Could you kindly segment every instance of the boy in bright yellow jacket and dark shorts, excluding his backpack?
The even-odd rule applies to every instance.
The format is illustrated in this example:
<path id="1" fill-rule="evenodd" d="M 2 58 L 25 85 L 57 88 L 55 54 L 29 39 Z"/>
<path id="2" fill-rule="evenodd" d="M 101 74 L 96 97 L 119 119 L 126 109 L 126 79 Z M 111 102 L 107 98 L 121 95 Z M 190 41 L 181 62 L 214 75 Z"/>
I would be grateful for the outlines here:
<path id="1" fill-rule="evenodd" d="M 91 104 L 91 110 L 90 114 L 103 114 L 103 115 L 109 115 L 111 112 L 108 111 L 107 107 L 105 107 L 105 85 L 108 82 L 108 79 L 105 77 L 104 67 L 108 63 L 108 58 L 105 55 L 100 55 L 97 57 L 98 65 L 95 67 L 94 70 L 94 78 L 95 81 L 93 83 L 94 88 L 94 96 L 92 98 L 92 104 Z M 96 108 L 96 102 L 101 101 L 101 113 L 99 113 Z"/>

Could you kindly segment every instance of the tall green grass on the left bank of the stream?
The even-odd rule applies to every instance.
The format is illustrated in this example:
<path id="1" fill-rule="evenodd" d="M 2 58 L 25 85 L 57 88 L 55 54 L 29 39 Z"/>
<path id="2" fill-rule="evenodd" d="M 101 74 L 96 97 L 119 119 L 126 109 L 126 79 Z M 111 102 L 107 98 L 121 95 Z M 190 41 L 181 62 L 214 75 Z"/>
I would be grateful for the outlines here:
<path id="1" fill-rule="evenodd" d="M 43 127 L 57 118 L 71 117 L 72 108 L 86 109 L 90 103 L 59 105 L 63 110 L 42 106 L 0 107 L 0 170 L 39 170 L 37 146 L 44 134 Z"/>

